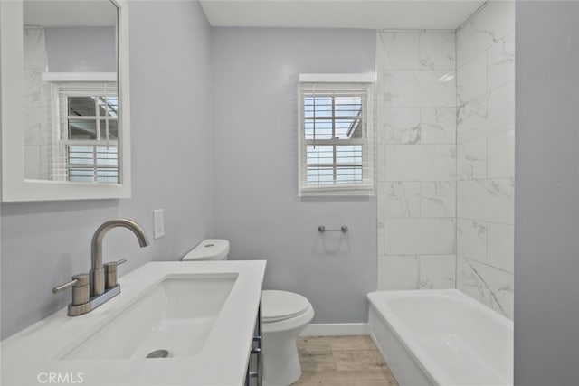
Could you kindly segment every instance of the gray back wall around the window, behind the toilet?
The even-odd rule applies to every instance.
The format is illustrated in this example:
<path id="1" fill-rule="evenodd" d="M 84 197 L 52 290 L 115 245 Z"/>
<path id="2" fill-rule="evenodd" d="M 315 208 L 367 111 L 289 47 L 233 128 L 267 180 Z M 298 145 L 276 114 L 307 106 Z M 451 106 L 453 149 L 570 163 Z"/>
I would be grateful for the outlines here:
<path id="1" fill-rule="evenodd" d="M 217 28 L 214 236 L 267 259 L 264 287 L 308 297 L 315 323 L 364 322 L 376 282 L 376 202 L 298 196 L 298 74 L 374 72 L 375 32 Z M 320 234 L 347 225 L 340 232 Z"/>

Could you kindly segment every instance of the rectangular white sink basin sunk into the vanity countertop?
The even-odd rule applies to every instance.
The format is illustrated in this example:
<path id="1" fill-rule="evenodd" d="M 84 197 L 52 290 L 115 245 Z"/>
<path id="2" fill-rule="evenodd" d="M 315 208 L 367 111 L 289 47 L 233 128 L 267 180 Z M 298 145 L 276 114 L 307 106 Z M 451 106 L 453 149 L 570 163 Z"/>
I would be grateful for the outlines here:
<path id="1" fill-rule="evenodd" d="M 237 274 L 165 278 L 62 359 L 146 358 L 158 350 L 168 357 L 199 353 Z"/>

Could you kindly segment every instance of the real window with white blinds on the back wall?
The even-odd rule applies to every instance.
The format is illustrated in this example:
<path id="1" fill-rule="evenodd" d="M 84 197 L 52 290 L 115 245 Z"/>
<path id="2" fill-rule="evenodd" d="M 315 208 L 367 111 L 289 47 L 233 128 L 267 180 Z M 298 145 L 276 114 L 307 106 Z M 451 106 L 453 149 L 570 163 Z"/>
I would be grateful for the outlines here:
<path id="1" fill-rule="evenodd" d="M 374 194 L 374 74 L 299 76 L 299 194 Z"/>

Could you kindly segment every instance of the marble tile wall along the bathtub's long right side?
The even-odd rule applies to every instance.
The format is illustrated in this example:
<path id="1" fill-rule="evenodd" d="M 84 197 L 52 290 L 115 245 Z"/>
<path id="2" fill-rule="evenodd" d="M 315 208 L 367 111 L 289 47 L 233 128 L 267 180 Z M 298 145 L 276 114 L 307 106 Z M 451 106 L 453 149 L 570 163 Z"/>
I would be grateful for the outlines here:
<path id="1" fill-rule="evenodd" d="M 491 2 L 456 33 L 456 287 L 513 317 L 515 12 Z"/>

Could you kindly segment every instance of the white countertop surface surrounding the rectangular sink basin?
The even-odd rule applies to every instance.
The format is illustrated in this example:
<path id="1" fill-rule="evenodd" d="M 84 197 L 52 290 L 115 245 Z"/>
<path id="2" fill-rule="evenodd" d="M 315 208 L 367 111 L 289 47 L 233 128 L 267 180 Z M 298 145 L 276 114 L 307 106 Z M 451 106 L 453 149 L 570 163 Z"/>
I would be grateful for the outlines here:
<path id="1" fill-rule="evenodd" d="M 119 278 L 121 293 L 89 314 L 71 317 L 62 309 L 5 339 L 0 344 L 0 383 L 5 386 L 48 384 L 48 377 L 54 373 L 52 376 L 61 377 L 61 384 L 241 385 L 260 304 L 265 264 L 263 260 L 147 263 Z M 152 284 L 175 274 L 199 273 L 239 275 L 200 353 L 162 360 L 59 359 L 64 347 L 106 325 L 119 310 L 141 298 Z"/>

